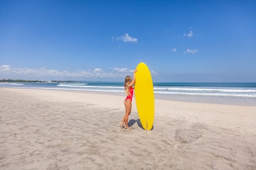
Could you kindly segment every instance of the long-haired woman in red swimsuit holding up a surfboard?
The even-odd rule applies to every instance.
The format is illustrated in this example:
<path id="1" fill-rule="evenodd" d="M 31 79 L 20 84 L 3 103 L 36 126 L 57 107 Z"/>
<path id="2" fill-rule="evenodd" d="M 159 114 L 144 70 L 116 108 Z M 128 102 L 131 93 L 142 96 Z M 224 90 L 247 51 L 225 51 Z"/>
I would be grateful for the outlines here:
<path id="1" fill-rule="evenodd" d="M 132 110 L 132 95 L 133 95 L 133 84 L 135 83 L 135 73 L 137 72 L 137 69 L 133 71 L 133 80 L 132 77 L 126 76 L 124 80 L 124 91 L 127 95 L 126 99 L 124 100 L 125 105 L 125 115 L 123 117 L 123 120 L 120 122 L 121 128 L 123 128 L 123 124 L 125 122 L 124 128 L 130 129 L 128 126 L 128 117 Z"/>

